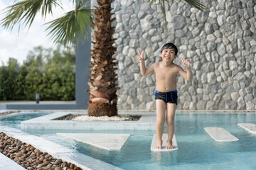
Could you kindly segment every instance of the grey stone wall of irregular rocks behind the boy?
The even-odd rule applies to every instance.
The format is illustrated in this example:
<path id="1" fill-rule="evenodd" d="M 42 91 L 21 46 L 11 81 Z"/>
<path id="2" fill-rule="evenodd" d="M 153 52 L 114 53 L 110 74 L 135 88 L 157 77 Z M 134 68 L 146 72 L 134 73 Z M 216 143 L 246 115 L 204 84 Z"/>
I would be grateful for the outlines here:
<path id="1" fill-rule="evenodd" d="M 161 6 L 142 0 L 115 0 L 114 38 L 119 61 L 119 109 L 155 109 L 155 75 L 142 77 L 137 51 L 146 67 L 161 61 L 160 48 L 174 42 L 179 58 L 191 60 L 193 80 L 177 77 L 178 109 L 256 109 L 256 35 L 254 0 L 205 1 L 206 12 L 185 1 Z"/>

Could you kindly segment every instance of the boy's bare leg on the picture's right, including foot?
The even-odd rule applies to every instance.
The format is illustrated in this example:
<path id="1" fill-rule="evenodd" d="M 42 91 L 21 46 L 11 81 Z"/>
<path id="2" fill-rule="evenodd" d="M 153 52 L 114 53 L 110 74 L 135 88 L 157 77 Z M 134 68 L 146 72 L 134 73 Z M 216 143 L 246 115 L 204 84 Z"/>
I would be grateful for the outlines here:
<path id="1" fill-rule="evenodd" d="M 174 116 L 176 111 L 176 104 L 167 103 L 166 110 L 166 124 L 168 133 L 166 149 L 173 149 L 174 146 L 172 145 L 172 138 L 174 137 Z"/>

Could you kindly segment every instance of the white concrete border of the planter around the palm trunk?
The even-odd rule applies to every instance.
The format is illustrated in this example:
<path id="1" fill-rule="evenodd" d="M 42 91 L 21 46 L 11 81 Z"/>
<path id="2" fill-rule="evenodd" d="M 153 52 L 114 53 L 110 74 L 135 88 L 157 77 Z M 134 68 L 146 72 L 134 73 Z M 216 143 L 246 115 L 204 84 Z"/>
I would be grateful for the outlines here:
<path id="1" fill-rule="evenodd" d="M 49 130 L 155 130 L 156 115 L 144 113 L 138 121 L 74 121 L 53 120 L 75 112 L 57 112 L 21 122 L 22 130 L 49 129 Z M 85 111 L 85 113 L 87 112 Z M 125 112 L 119 115 L 126 114 Z M 129 113 L 134 114 L 134 113 Z M 139 114 L 137 112 L 136 114 Z"/>

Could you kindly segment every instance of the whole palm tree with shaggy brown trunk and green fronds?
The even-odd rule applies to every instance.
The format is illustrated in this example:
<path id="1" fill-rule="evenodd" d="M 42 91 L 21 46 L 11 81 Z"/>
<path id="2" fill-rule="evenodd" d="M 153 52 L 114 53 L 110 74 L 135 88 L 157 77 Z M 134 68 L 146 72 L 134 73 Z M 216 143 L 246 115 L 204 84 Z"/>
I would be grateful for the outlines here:
<path id="1" fill-rule="evenodd" d="M 97 0 L 98 6 L 94 11 L 95 17 L 92 16 L 89 6 L 90 1 L 73 0 L 75 9 L 65 13 L 64 16 L 50 21 L 46 31 L 50 38 L 55 43 L 70 46 L 78 44 L 79 38 L 82 42 L 87 39 L 87 31 L 95 28 L 95 36 L 92 37 L 95 41 L 92 50 L 92 61 L 90 66 L 90 101 L 88 106 L 89 115 L 117 115 L 117 94 L 119 89 L 117 85 L 117 74 L 114 70 L 117 69 L 113 47 L 114 39 L 112 35 L 114 28 L 111 23 L 115 18 L 111 18 L 111 3 L 114 0 Z M 122 0 L 124 1 L 124 0 Z M 164 20 L 166 21 L 165 2 L 171 0 L 159 0 L 162 4 Z M 195 8 L 204 10 L 205 6 L 201 0 L 185 0 Z M 25 23 L 28 28 L 33 23 L 36 14 L 41 11 L 42 16 L 46 17 L 52 13 L 53 6 L 61 8 L 60 0 L 23 0 L 16 2 L 6 8 L 6 17 L 1 21 L 4 28 L 12 30 L 15 25 Z M 148 0 L 150 5 L 156 3 L 156 0 Z M 95 19 L 94 19 L 95 18 Z"/>

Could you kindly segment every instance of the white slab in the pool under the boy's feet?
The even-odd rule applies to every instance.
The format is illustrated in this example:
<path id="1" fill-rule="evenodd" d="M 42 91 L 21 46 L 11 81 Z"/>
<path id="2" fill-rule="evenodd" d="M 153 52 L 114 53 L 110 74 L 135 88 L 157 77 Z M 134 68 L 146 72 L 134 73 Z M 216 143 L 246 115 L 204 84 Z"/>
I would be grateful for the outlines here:
<path id="1" fill-rule="evenodd" d="M 163 140 L 163 146 L 162 146 L 162 149 L 154 149 L 154 147 L 157 145 L 157 136 L 156 134 L 153 136 L 153 139 L 152 139 L 152 142 L 151 142 L 151 151 L 156 151 L 156 152 L 166 152 L 166 151 L 174 151 L 176 149 L 178 149 L 178 145 L 177 145 L 177 141 L 176 141 L 176 137 L 174 135 L 173 137 L 173 146 L 174 146 L 174 149 L 166 149 L 166 142 L 168 140 L 168 135 L 166 133 L 163 134 L 163 137 L 162 137 L 162 140 Z"/>

